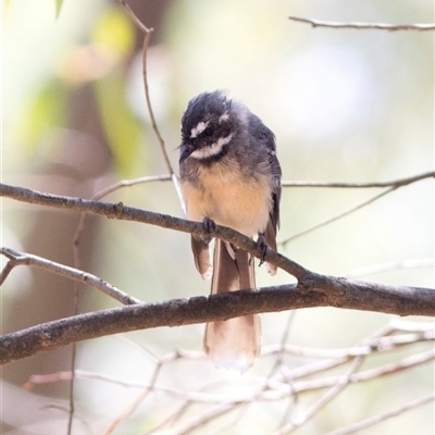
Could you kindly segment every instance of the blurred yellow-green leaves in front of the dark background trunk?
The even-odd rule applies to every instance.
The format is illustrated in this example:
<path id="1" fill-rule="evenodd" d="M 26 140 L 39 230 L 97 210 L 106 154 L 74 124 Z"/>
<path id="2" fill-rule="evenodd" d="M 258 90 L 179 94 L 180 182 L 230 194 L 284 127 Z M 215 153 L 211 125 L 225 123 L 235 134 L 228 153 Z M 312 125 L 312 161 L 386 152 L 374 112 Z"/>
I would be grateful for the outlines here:
<path id="1" fill-rule="evenodd" d="M 59 2 L 57 7 L 58 12 L 62 8 L 57 21 L 67 20 L 71 3 Z M 10 8 L 14 8 L 13 2 Z M 8 17 L 5 20 L 8 25 Z M 91 83 L 114 167 L 122 176 L 140 174 L 137 156 L 144 140 L 144 126 L 126 98 L 126 75 L 135 44 L 134 26 L 120 8 L 109 7 L 96 16 L 89 29 L 83 30 L 78 37 L 65 41 L 59 54 L 49 61 L 52 63 L 49 74 L 41 75 L 32 90 L 17 100 L 17 110 L 10 112 L 16 113 L 14 122 L 5 123 L 5 137 L 9 139 L 11 134 L 12 140 L 21 144 L 20 149 L 25 156 L 42 151 L 41 145 L 49 132 L 67 126 L 74 89 Z"/>

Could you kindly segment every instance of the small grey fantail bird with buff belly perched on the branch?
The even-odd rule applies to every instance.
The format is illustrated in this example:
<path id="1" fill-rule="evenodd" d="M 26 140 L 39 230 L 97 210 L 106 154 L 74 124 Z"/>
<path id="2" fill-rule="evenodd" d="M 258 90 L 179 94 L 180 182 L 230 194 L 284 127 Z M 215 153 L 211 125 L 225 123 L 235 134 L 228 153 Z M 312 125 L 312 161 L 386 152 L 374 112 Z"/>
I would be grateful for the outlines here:
<path id="1" fill-rule="evenodd" d="M 274 134 L 244 104 L 221 91 L 190 100 L 182 119 L 179 174 L 192 221 L 211 220 L 246 236 L 258 234 L 276 250 L 279 224 L 281 166 Z M 253 259 L 236 246 L 191 237 L 195 264 L 202 278 L 212 276 L 211 293 L 254 288 Z M 266 263 L 269 273 L 276 268 Z M 257 314 L 207 324 L 204 350 L 217 366 L 240 372 L 260 352 Z"/>

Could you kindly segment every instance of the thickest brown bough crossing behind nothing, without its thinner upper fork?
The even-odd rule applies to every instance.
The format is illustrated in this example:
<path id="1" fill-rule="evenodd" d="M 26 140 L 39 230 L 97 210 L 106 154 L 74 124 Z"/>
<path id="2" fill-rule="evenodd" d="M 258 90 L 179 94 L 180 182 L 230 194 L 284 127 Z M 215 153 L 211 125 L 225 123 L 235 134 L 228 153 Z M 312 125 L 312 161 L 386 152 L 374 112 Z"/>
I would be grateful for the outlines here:
<path id="1" fill-rule="evenodd" d="M 435 315 L 435 290 L 309 274 L 298 285 L 240 290 L 102 310 L 45 323 L 0 338 L 0 363 L 104 335 L 226 320 L 249 313 L 337 307 L 399 315 Z"/>

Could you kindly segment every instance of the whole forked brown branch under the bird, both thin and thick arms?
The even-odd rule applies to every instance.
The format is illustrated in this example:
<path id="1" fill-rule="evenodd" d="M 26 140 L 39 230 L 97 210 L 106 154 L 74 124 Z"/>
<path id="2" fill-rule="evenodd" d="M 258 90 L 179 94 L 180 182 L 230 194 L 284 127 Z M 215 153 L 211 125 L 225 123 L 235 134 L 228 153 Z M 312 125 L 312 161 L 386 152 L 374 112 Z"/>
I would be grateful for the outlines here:
<path id="1" fill-rule="evenodd" d="M 8 185 L 0 185 L 0 195 L 28 203 L 142 222 L 197 235 L 209 234 L 201 223 L 124 207 L 122 202 L 114 204 L 89 201 Z M 263 254 L 253 240 L 234 229 L 216 225 L 210 235 L 231 241 L 257 258 Z M 240 290 L 208 298 L 138 303 L 49 322 L 3 336 L 0 339 L 0 361 L 5 363 L 41 350 L 52 350 L 115 333 L 204 323 L 249 313 L 298 308 L 337 307 L 398 315 L 435 315 L 433 289 L 388 286 L 320 275 L 271 250 L 268 250 L 265 259 L 294 275 L 298 284 L 254 291 Z"/>

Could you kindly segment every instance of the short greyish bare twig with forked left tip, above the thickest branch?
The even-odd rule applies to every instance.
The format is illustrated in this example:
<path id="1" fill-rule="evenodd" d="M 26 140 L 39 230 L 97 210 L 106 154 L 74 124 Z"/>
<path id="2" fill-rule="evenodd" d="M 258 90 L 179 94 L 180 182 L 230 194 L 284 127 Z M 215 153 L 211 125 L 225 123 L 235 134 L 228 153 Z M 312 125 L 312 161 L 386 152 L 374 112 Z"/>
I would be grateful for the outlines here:
<path id="1" fill-rule="evenodd" d="M 79 271 L 78 269 L 70 268 L 64 264 L 55 263 L 54 261 L 46 260 L 41 257 L 33 256 L 30 253 L 16 252 L 10 248 L 0 248 L 0 253 L 8 257 L 10 261 L 8 262 L 8 273 L 3 272 L 1 274 L 0 284 L 3 283 L 9 272 L 17 265 L 29 265 L 33 268 L 40 268 L 48 272 L 55 273 L 57 275 L 61 275 L 67 277 L 70 279 L 74 279 L 76 282 L 83 284 L 89 284 L 90 286 L 98 288 L 105 295 L 110 296 L 113 299 L 116 299 L 123 304 L 134 304 L 139 303 L 140 300 L 136 299 L 124 291 L 117 289 L 105 281 L 99 278 L 91 273 L 87 273 L 84 271 Z"/>

